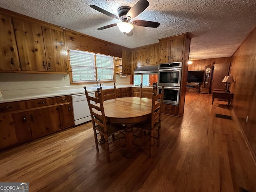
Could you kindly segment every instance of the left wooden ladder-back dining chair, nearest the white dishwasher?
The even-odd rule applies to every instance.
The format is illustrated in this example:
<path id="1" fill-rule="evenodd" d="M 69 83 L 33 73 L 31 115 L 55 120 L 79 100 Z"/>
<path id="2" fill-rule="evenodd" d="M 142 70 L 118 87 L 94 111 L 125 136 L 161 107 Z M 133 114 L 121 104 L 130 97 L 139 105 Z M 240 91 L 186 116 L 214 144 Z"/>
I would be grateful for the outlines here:
<path id="1" fill-rule="evenodd" d="M 122 149 L 125 147 L 118 146 L 115 148 L 115 150 L 110 151 L 109 145 L 113 144 L 115 142 L 118 142 L 120 140 L 124 139 L 124 126 L 122 125 L 116 125 L 116 124 L 109 124 L 106 122 L 105 113 L 104 113 L 104 107 L 103 107 L 103 100 L 102 95 L 100 92 L 100 88 L 97 88 L 98 91 L 98 98 L 92 97 L 88 95 L 88 91 L 86 90 L 86 87 L 84 87 L 84 92 L 86 94 L 87 102 L 89 105 L 91 117 L 92 117 L 92 127 L 94 131 L 94 140 L 96 145 L 96 150 L 99 150 L 99 145 L 104 148 L 107 155 L 107 161 L 110 162 L 110 154 Z M 95 103 L 99 103 L 100 106 L 96 106 Z M 109 136 L 112 136 L 113 134 L 121 133 L 122 137 L 116 137 L 118 139 L 112 139 L 110 142 L 108 140 Z M 98 141 L 98 135 L 101 135 L 101 139 Z M 104 138 L 102 138 L 104 137 Z M 113 138 L 113 137 L 112 137 Z"/>

